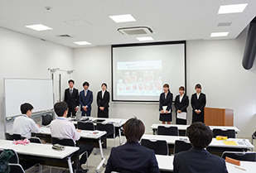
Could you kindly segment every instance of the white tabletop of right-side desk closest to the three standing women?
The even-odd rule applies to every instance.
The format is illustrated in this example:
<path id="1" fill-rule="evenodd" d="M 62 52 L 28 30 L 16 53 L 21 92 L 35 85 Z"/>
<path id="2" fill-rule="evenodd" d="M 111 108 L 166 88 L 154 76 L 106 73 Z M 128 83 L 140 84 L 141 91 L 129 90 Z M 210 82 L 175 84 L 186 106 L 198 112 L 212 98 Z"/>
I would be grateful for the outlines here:
<path id="1" fill-rule="evenodd" d="M 186 128 L 189 127 L 190 125 L 181 125 L 181 124 L 171 124 L 171 125 L 168 125 L 168 124 L 157 124 L 157 123 L 154 123 L 152 124 L 151 128 L 152 129 L 157 129 L 158 126 L 165 126 L 165 127 L 178 127 L 179 130 L 184 130 L 186 131 Z M 240 132 L 240 130 L 237 128 L 237 127 L 233 127 L 233 126 L 209 126 L 211 130 L 213 130 L 214 128 L 218 128 L 218 129 L 222 129 L 222 130 L 227 130 L 227 129 L 231 129 L 235 132 Z"/>

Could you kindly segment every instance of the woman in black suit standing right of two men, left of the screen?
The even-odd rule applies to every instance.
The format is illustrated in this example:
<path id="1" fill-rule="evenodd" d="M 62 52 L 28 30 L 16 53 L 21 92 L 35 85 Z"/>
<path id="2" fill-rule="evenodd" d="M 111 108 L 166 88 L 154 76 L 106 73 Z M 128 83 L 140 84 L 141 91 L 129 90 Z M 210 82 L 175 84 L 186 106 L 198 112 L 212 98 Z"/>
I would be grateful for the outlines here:
<path id="1" fill-rule="evenodd" d="M 98 118 L 109 118 L 109 91 L 107 84 L 101 84 L 101 91 L 97 94 Z"/>

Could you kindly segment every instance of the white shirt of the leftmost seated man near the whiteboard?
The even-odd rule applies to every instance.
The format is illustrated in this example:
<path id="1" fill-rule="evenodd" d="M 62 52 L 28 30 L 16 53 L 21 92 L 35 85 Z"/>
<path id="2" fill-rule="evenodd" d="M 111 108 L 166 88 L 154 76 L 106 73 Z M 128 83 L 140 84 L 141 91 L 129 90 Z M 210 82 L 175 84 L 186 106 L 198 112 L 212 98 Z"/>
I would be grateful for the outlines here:
<path id="1" fill-rule="evenodd" d="M 31 137 L 31 132 L 40 133 L 41 128 L 36 125 L 34 120 L 28 118 L 27 115 L 21 115 L 14 119 L 12 124 L 12 132 L 22 135 L 22 137 Z"/>

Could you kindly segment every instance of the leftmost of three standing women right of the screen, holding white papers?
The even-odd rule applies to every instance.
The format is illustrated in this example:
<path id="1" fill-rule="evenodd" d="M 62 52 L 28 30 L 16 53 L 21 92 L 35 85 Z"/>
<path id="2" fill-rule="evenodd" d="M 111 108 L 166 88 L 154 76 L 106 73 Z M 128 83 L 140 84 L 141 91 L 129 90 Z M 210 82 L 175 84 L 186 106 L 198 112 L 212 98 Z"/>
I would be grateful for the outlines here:
<path id="1" fill-rule="evenodd" d="M 172 103 L 172 94 L 169 90 L 169 84 L 163 85 L 163 93 L 160 95 L 159 99 L 159 111 L 162 124 L 171 124 L 171 103 Z"/>

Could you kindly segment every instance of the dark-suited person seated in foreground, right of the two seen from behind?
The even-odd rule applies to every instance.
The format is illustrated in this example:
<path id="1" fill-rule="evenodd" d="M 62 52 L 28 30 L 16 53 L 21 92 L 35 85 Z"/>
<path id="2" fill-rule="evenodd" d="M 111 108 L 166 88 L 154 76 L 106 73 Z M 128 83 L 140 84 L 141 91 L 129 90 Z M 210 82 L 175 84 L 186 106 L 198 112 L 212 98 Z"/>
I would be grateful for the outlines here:
<path id="1" fill-rule="evenodd" d="M 225 160 L 211 155 L 205 148 L 209 146 L 213 132 L 204 123 L 192 123 L 187 128 L 191 149 L 174 156 L 174 173 L 227 173 Z"/>

